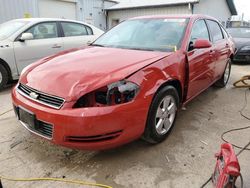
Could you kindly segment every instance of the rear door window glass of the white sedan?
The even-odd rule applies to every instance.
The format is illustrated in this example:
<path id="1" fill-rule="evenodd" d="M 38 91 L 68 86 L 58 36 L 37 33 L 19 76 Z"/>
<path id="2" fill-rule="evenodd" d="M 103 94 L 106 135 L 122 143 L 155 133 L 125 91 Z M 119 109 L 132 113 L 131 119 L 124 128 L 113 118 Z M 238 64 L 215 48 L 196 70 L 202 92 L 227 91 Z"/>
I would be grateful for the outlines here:
<path id="1" fill-rule="evenodd" d="M 84 25 L 78 23 L 62 22 L 65 37 L 88 35 Z"/>

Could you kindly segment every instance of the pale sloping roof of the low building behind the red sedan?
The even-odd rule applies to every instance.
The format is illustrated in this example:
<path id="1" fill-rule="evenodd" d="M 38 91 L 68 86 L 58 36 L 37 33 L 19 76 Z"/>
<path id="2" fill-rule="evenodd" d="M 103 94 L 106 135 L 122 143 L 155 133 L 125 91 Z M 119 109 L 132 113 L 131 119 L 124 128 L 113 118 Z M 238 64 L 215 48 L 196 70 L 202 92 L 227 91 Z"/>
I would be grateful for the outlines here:
<path id="1" fill-rule="evenodd" d="M 170 6 L 198 2 L 199 0 L 123 0 L 120 3 L 108 8 L 107 10 Z"/>

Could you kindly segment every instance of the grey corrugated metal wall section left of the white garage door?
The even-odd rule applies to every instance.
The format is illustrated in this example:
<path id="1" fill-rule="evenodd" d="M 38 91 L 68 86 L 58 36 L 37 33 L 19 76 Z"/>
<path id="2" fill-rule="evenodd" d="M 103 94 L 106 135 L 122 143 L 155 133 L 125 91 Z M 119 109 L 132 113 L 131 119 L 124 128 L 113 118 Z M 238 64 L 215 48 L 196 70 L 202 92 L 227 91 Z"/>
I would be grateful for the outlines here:
<path id="1" fill-rule="evenodd" d="M 38 16 L 37 0 L 0 0 L 0 23 L 23 18 L 25 14 Z"/>

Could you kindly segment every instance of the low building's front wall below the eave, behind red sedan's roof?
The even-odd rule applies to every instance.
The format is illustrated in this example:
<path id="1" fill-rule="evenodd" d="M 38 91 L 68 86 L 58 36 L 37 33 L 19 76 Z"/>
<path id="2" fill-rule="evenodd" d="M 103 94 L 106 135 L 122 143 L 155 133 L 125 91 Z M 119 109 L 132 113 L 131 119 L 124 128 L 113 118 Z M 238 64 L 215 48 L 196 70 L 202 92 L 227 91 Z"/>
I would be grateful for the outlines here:
<path id="1" fill-rule="evenodd" d="M 108 11 L 108 27 L 112 28 L 115 23 L 127 20 L 128 18 L 145 15 L 161 14 L 191 14 L 192 11 L 188 5 L 173 7 L 153 7 L 141 9 L 112 10 Z"/>

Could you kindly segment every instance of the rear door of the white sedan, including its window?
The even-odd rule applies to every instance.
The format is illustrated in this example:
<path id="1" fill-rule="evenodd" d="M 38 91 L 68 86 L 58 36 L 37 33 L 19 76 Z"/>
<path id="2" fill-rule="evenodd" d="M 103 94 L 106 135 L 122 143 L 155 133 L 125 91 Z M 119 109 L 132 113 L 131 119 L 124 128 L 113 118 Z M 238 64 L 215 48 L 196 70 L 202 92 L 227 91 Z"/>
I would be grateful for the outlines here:
<path id="1" fill-rule="evenodd" d="M 61 22 L 65 49 L 87 46 L 95 40 L 93 30 L 84 24 Z"/>

